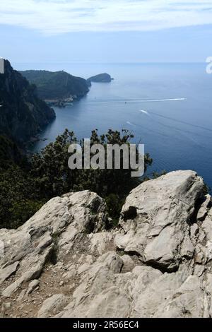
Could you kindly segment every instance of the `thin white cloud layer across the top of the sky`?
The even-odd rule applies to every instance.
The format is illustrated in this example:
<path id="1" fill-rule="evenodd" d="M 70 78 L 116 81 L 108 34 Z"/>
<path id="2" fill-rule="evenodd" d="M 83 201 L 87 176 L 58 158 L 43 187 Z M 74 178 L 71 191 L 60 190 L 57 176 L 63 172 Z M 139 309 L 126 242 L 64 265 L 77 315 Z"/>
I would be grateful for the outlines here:
<path id="1" fill-rule="evenodd" d="M 212 24 L 212 0 L 1 0 L 0 24 L 46 35 Z"/>

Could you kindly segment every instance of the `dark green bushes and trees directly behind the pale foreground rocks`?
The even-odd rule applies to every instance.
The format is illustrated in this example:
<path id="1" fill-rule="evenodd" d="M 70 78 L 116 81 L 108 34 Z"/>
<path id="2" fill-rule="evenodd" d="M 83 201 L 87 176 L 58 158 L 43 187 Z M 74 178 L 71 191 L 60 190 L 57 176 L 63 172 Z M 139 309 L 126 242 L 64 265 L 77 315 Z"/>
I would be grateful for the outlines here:
<path id="1" fill-rule="evenodd" d="M 109 130 L 105 135 L 92 131 L 90 144 L 129 143 L 133 135 L 129 131 Z M 107 211 L 112 218 L 108 227 L 116 225 L 119 212 L 129 191 L 141 183 L 131 177 L 131 170 L 70 170 L 68 147 L 76 143 L 73 131 L 64 131 L 54 143 L 30 160 L 0 169 L 0 227 L 14 228 L 28 220 L 44 203 L 54 196 L 69 191 L 89 189 L 105 198 Z M 83 141 L 78 142 L 83 147 Z M 145 167 L 152 160 L 145 156 Z M 122 165 L 122 163 L 121 163 Z"/>

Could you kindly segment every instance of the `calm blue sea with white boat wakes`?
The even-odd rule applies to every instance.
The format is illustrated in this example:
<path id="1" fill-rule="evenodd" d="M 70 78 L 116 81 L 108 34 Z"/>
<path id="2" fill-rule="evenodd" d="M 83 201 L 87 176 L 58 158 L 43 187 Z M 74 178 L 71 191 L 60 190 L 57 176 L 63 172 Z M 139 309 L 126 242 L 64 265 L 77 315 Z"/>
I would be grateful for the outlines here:
<path id="1" fill-rule="evenodd" d="M 17 68 L 18 67 L 18 68 Z M 129 129 L 153 158 L 150 171 L 195 170 L 212 187 L 212 75 L 206 64 L 25 64 L 17 69 L 64 70 L 88 78 L 107 72 L 82 100 L 57 114 L 33 152 L 64 129 L 89 138 L 92 129 Z"/>

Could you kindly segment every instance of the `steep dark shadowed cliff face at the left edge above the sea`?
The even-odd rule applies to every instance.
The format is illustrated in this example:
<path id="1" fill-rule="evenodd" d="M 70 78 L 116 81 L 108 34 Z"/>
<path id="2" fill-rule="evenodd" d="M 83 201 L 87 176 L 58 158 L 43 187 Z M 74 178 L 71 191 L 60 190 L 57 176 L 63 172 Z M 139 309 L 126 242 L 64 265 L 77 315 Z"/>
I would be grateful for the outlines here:
<path id="1" fill-rule="evenodd" d="M 0 134 L 28 141 L 54 119 L 55 113 L 37 97 L 35 85 L 4 62 L 5 73 L 0 75 Z"/>

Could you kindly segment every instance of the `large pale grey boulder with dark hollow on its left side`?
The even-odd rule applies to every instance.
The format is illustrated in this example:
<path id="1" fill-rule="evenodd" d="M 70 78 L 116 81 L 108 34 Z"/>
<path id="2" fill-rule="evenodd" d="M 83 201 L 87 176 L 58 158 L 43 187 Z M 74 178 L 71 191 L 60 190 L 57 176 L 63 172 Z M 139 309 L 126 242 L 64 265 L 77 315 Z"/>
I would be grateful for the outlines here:
<path id="1" fill-rule="evenodd" d="M 203 189 L 203 179 L 195 172 L 179 171 L 132 190 L 122 208 L 117 248 L 136 253 L 143 263 L 161 271 L 177 271 L 194 255 L 189 229 Z"/>

